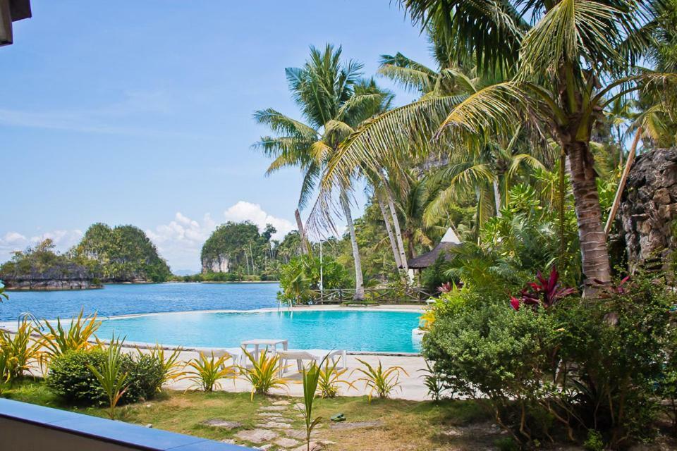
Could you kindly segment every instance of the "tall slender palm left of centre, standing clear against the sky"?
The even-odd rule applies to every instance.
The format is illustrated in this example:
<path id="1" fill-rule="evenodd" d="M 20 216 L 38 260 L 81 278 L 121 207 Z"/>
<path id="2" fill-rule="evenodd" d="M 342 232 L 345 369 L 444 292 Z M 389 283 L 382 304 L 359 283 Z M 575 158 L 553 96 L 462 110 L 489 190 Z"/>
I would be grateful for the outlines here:
<path id="1" fill-rule="evenodd" d="M 310 58 L 302 68 L 285 70 L 289 89 L 305 123 L 274 109 L 256 111 L 257 123 L 267 125 L 276 136 L 262 137 L 255 144 L 274 158 L 267 174 L 284 167 L 303 171 L 298 205 L 306 206 L 315 183 L 338 145 L 365 119 L 383 111 L 391 99 L 372 80 L 360 80 L 362 65 L 349 60 L 341 63 L 341 47 L 327 44 L 324 50 L 310 48 Z M 350 183 L 341 186 L 339 202 L 346 219 L 355 263 L 355 299 L 363 299 L 362 264 L 350 214 Z"/>

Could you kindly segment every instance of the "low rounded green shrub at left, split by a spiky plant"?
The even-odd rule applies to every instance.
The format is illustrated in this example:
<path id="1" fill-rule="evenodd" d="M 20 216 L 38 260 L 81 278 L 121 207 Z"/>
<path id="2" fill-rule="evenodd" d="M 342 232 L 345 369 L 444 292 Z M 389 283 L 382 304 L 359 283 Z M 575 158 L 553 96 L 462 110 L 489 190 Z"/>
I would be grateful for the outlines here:
<path id="1" fill-rule="evenodd" d="M 68 351 L 55 357 L 49 366 L 47 385 L 54 393 L 73 404 L 97 405 L 107 398 L 88 365 L 101 369 L 107 358 L 105 350 Z M 163 378 L 162 364 L 150 355 L 121 356 L 123 371 L 128 373 L 128 389 L 121 404 L 150 400 L 157 393 Z"/>

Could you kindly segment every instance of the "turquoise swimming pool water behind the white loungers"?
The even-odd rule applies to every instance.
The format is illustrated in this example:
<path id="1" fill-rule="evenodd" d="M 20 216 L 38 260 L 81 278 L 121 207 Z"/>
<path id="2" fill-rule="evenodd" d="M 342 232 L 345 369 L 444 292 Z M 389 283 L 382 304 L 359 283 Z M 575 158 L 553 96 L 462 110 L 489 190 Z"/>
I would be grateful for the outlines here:
<path id="1" fill-rule="evenodd" d="M 289 340 L 290 348 L 369 352 L 419 352 L 412 339 L 420 314 L 386 310 L 187 311 L 105 320 L 102 340 L 184 347 L 237 347 L 254 338 Z"/>

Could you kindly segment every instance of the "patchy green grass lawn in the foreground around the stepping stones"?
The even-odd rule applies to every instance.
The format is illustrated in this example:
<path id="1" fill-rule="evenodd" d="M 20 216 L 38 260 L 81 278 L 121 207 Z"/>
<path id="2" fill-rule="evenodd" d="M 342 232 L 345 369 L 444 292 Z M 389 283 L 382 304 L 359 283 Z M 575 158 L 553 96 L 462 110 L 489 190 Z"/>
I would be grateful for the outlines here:
<path id="1" fill-rule="evenodd" d="M 6 389 L 4 397 L 83 414 L 106 416 L 104 409 L 73 408 L 63 405 L 59 398 L 39 381 L 27 380 Z M 118 419 L 134 424 L 152 424 L 154 428 L 197 435 L 214 440 L 233 438 L 243 429 L 252 429 L 260 423 L 258 409 L 270 406 L 284 397 L 256 396 L 249 393 L 200 393 L 167 391 L 152 401 L 118 407 Z M 291 420 L 293 429 L 303 430 L 303 422 L 291 402 L 281 416 Z M 489 416 L 470 401 L 413 402 L 404 400 L 372 400 L 366 397 L 339 397 L 316 401 L 317 415 L 324 421 L 318 429 L 319 439 L 331 440 L 336 450 L 480 450 L 492 447 L 494 441 L 505 435 L 497 431 Z M 352 421 L 379 421 L 370 428 L 338 430 L 331 428 L 329 417 L 343 413 L 346 423 Z M 225 431 L 206 426 L 205 421 L 221 419 L 238 421 L 240 428 Z M 282 434 L 281 434 L 282 435 Z M 248 444 L 248 443 L 243 443 Z"/>

